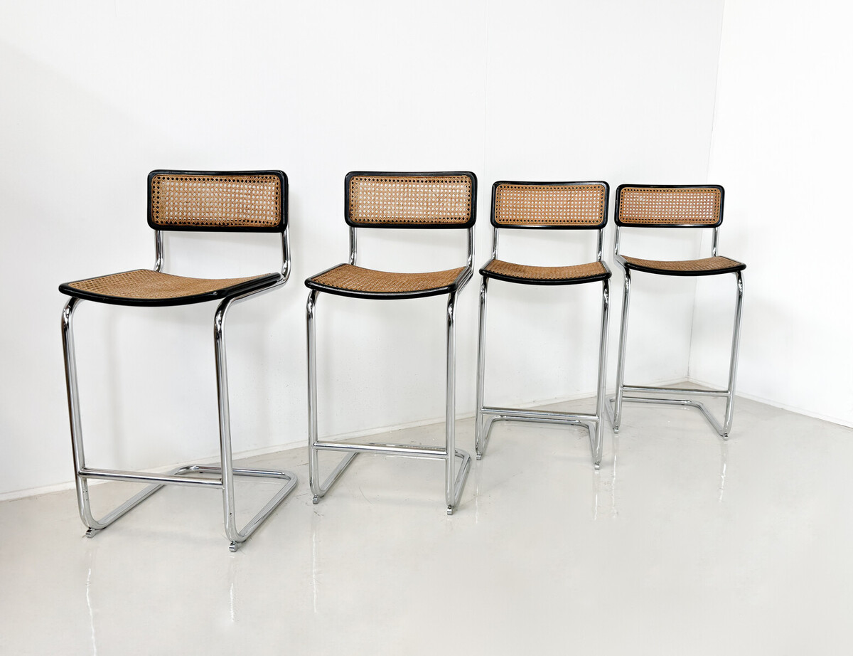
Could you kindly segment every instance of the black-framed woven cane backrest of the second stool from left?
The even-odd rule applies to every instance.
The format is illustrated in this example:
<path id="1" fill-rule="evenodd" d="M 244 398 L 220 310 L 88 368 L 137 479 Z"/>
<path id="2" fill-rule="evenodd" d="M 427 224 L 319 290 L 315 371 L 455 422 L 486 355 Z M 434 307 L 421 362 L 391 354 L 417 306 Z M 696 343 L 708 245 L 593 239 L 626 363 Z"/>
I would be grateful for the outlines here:
<path id="1" fill-rule="evenodd" d="M 473 173 L 370 173 L 346 176 L 350 226 L 464 228 L 476 220 Z"/>

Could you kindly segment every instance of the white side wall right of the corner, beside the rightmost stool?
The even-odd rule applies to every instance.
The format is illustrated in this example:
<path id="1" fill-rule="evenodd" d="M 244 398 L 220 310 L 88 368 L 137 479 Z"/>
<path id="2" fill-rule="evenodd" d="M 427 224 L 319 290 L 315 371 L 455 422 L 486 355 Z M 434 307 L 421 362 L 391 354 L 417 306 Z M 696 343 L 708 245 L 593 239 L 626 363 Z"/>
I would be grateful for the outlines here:
<path id="1" fill-rule="evenodd" d="M 853 425 L 844 3 L 727 3 L 709 181 L 720 254 L 746 262 L 738 391 Z M 707 246 L 707 244 L 706 244 Z M 734 281 L 699 284 L 690 377 L 725 384 Z M 721 311 L 721 307 L 725 309 Z M 735 425 L 735 430 L 737 425 Z"/>

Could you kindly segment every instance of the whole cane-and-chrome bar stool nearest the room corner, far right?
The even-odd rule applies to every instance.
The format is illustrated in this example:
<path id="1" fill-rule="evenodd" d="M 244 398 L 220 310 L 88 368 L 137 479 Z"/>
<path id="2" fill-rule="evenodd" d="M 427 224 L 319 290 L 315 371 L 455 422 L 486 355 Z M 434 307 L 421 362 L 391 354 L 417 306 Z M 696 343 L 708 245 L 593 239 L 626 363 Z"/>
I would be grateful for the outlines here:
<path id="1" fill-rule="evenodd" d="M 743 307 L 744 284 L 741 272 L 746 269 L 746 264 L 717 255 L 724 196 L 725 191 L 720 185 L 619 185 L 616 191 L 616 238 L 613 253 L 615 261 L 624 271 L 625 289 L 622 297 L 622 325 L 619 330 L 616 395 L 607 403 L 607 413 L 613 432 L 619 431 L 623 403 L 656 403 L 695 407 L 724 440 L 728 439 L 734 413 L 734 381 L 737 375 L 740 316 Z M 711 257 L 699 260 L 659 261 L 621 255 L 619 231 L 622 227 L 712 228 Z M 737 299 L 734 306 L 734 331 L 726 389 L 679 389 L 624 384 L 625 337 L 628 331 L 632 271 L 659 276 L 717 276 L 723 273 L 734 273 Z M 625 392 L 629 392 L 630 395 L 625 395 Z M 659 396 L 662 394 L 670 396 Z M 726 410 L 722 425 L 704 403 L 683 398 L 684 396 L 725 397 Z"/>

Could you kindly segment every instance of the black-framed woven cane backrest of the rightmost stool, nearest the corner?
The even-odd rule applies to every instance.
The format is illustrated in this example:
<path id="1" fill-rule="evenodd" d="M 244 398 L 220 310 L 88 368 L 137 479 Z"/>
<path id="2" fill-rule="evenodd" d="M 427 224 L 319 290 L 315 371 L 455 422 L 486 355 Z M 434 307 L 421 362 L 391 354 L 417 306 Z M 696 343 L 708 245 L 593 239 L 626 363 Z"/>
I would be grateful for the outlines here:
<path id="1" fill-rule="evenodd" d="M 621 185 L 617 192 L 619 226 L 719 226 L 722 187 Z"/>

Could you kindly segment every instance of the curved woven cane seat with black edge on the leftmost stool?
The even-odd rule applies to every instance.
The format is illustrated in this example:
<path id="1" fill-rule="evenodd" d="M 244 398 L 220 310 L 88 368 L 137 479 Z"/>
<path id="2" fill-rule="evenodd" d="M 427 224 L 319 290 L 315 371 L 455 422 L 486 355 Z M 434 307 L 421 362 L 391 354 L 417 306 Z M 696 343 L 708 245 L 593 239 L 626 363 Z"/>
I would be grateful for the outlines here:
<path id="1" fill-rule="evenodd" d="M 185 278 L 169 273 L 136 269 L 60 285 L 60 291 L 88 301 L 113 305 L 188 305 L 237 296 L 280 278 L 264 273 L 247 278 Z"/>

